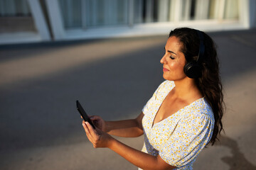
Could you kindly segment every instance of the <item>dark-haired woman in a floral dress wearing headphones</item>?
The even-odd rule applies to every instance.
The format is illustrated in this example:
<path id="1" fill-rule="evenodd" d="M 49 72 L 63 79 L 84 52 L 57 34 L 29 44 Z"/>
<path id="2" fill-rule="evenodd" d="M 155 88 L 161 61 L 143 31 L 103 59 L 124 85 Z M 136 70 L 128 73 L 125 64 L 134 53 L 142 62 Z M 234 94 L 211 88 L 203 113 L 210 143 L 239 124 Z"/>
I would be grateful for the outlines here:
<path id="1" fill-rule="evenodd" d="M 199 30 L 176 28 L 164 47 L 166 79 L 132 120 L 92 116 L 96 130 L 82 122 L 94 147 L 108 147 L 140 169 L 192 169 L 199 152 L 223 130 L 223 94 L 213 40 Z M 142 151 L 110 135 L 138 137 Z"/>

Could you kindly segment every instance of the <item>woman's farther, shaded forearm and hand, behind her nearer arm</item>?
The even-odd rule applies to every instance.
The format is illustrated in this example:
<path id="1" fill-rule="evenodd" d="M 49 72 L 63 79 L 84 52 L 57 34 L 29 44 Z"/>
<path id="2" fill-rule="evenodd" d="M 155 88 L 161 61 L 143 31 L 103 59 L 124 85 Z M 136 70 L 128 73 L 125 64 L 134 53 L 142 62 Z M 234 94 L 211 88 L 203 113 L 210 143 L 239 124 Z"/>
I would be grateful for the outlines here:
<path id="1" fill-rule="evenodd" d="M 95 123 L 97 128 L 119 137 L 139 137 L 143 135 L 142 118 L 144 113 L 140 113 L 135 119 L 105 121 L 99 116 L 92 116 L 91 120 Z"/>

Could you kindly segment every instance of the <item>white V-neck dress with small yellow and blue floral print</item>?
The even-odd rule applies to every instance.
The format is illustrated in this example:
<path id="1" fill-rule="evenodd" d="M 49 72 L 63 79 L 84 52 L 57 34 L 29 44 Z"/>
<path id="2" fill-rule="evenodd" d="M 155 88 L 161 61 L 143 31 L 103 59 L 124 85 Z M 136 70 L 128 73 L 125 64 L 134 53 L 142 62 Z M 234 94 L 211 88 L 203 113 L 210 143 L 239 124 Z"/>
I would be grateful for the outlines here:
<path id="1" fill-rule="evenodd" d="M 193 169 L 193 162 L 213 133 L 214 116 L 205 98 L 181 108 L 153 125 L 161 103 L 175 86 L 174 81 L 164 81 L 144 106 L 144 146 L 142 152 L 158 155 L 176 169 Z"/>

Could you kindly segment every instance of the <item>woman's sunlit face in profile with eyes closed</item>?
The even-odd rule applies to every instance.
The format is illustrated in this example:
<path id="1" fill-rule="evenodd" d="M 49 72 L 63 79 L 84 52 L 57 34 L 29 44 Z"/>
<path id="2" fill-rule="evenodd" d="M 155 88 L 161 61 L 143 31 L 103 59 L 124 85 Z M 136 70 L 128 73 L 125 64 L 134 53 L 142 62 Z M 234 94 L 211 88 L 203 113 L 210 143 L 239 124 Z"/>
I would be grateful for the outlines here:
<path id="1" fill-rule="evenodd" d="M 160 60 L 163 64 L 163 77 L 166 80 L 176 81 L 186 78 L 183 72 L 186 59 L 180 51 L 181 47 L 182 43 L 175 36 L 171 36 L 166 42 L 165 54 Z"/>

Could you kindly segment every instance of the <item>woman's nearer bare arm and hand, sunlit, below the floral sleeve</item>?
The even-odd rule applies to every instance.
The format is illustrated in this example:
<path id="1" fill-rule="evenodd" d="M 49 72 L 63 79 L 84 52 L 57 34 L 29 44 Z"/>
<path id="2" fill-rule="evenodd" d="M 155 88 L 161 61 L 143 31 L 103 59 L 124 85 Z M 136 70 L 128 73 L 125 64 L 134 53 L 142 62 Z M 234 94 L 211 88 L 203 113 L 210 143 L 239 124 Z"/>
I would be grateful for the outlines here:
<path id="1" fill-rule="evenodd" d="M 152 156 L 150 154 L 146 154 L 137 149 L 124 145 L 122 142 L 115 140 L 113 137 L 108 135 L 105 132 L 102 132 L 99 129 L 94 130 L 89 123 L 82 123 L 85 128 L 86 135 L 90 142 L 92 142 L 93 147 L 108 147 L 112 149 L 114 152 L 117 152 L 120 156 L 127 159 L 127 161 L 131 162 L 135 166 L 138 166 L 141 169 L 174 169 L 174 166 L 171 166 L 164 162 L 161 157 Z"/>

